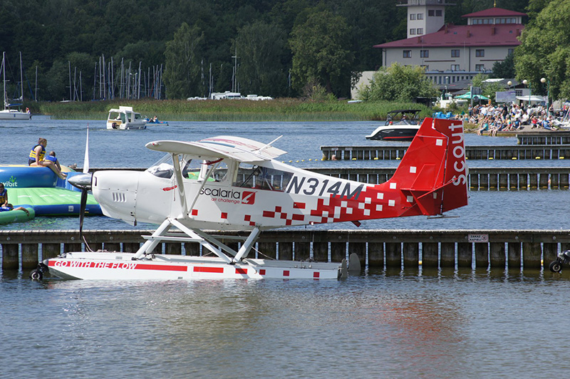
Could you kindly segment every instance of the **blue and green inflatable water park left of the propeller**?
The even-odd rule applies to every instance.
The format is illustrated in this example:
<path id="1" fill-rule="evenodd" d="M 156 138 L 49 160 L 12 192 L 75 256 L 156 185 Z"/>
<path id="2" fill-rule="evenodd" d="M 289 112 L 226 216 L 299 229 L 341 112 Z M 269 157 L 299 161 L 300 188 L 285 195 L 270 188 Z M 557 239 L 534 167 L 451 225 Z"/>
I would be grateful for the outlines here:
<path id="1" fill-rule="evenodd" d="M 25 222 L 33 217 L 77 216 L 81 204 L 81 191 L 68 183 L 68 179 L 81 174 L 61 166 L 65 180 L 57 177 L 49 167 L 28 165 L 0 165 L 0 182 L 8 192 L 11 211 L 0 212 L 0 224 Z M 28 212 L 19 207 L 25 208 Z M 101 208 L 88 194 L 86 215 L 100 215 Z"/>

